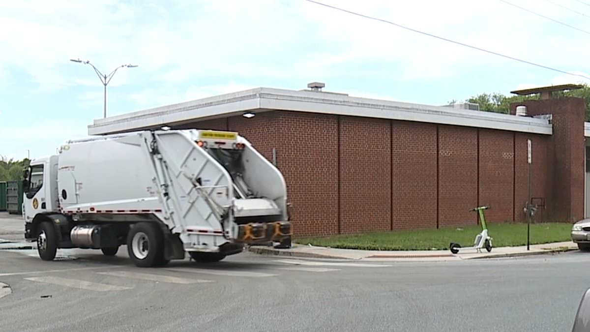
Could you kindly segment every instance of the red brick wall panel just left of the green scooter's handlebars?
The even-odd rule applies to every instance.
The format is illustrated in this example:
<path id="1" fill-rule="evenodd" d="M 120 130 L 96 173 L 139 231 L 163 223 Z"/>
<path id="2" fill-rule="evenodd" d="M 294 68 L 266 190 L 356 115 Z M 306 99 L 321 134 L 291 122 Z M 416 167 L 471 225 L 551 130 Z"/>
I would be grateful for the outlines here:
<path id="1" fill-rule="evenodd" d="M 476 224 L 477 129 L 438 126 L 438 225 Z"/>

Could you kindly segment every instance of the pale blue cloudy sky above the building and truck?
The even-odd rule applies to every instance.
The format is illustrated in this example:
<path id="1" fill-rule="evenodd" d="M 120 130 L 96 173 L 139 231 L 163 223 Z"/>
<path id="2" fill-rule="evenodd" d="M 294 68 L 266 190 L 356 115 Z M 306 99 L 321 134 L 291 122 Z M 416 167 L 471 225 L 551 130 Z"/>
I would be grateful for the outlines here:
<path id="1" fill-rule="evenodd" d="M 318 0 L 590 76 L 590 0 Z M 565 8 L 564 8 L 565 7 Z M 580 31 L 582 30 L 582 31 Z M 41 158 L 107 115 L 253 87 L 446 105 L 585 79 L 305 0 L 0 0 L 0 158 Z"/>

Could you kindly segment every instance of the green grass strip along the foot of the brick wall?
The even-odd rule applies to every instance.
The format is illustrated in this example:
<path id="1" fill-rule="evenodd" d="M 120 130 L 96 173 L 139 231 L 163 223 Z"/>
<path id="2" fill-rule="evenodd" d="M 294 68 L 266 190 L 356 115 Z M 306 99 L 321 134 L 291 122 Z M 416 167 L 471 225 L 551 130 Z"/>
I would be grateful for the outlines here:
<path id="1" fill-rule="evenodd" d="M 571 240 L 572 224 L 530 224 L 530 243 L 542 244 Z M 294 242 L 331 248 L 364 250 L 434 250 L 448 249 L 451 242 L 473 246 L 481 226 L 458 226 L 441 229 L 370 232 L 357 235 L 336 235 L 296 239 Z M 526 245 L 526 223 L 488 223 L 494 247 Z"/>

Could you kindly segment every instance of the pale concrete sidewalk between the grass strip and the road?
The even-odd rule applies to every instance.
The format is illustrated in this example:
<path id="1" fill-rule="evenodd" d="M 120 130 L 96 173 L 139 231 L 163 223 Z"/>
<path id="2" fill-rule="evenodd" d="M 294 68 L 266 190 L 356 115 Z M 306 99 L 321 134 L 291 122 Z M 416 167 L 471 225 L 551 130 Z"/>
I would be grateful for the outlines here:
<path id="1" fill-rule="evenodd" d="M 290 256 L 302 258 L 330 258 L 330 259 L 356 259 L 363 261 L 462 261 L 465 259 L 516 257 L 528 255 L 542 255 L 547 253 L 566 252 L 576 250 L 578 246 L 573 242 L 546 243 L 544 245 L 531 245 L 530 250 L 526 246 L 493 248 L 491 252 L 483 249 L 477 253 L 474 249 L 459 250 L 453 255 L 450 250 L 407 250 L 407 251 L 378 251 L 378 250 L 353 250 L 324 248 L 306 245 L 294 245 L 290 249 L 274 249 L 266 246 L 252 246 L 250 252 Z"/>

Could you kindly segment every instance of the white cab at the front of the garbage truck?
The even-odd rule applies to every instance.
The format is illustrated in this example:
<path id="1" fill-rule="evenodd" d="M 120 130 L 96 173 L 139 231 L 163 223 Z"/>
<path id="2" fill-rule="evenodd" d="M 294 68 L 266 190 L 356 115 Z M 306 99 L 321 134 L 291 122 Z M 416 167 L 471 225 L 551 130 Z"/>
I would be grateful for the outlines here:
<path id="1" fill-rule="evenodd" d="M 57 193 L 58 157 L 53 155 L 31 161 L 24 178 L 22 214 L 25 220 L 25 239 L 34 239 L 34 223 L 40 216 L 59 210 Z"/>

